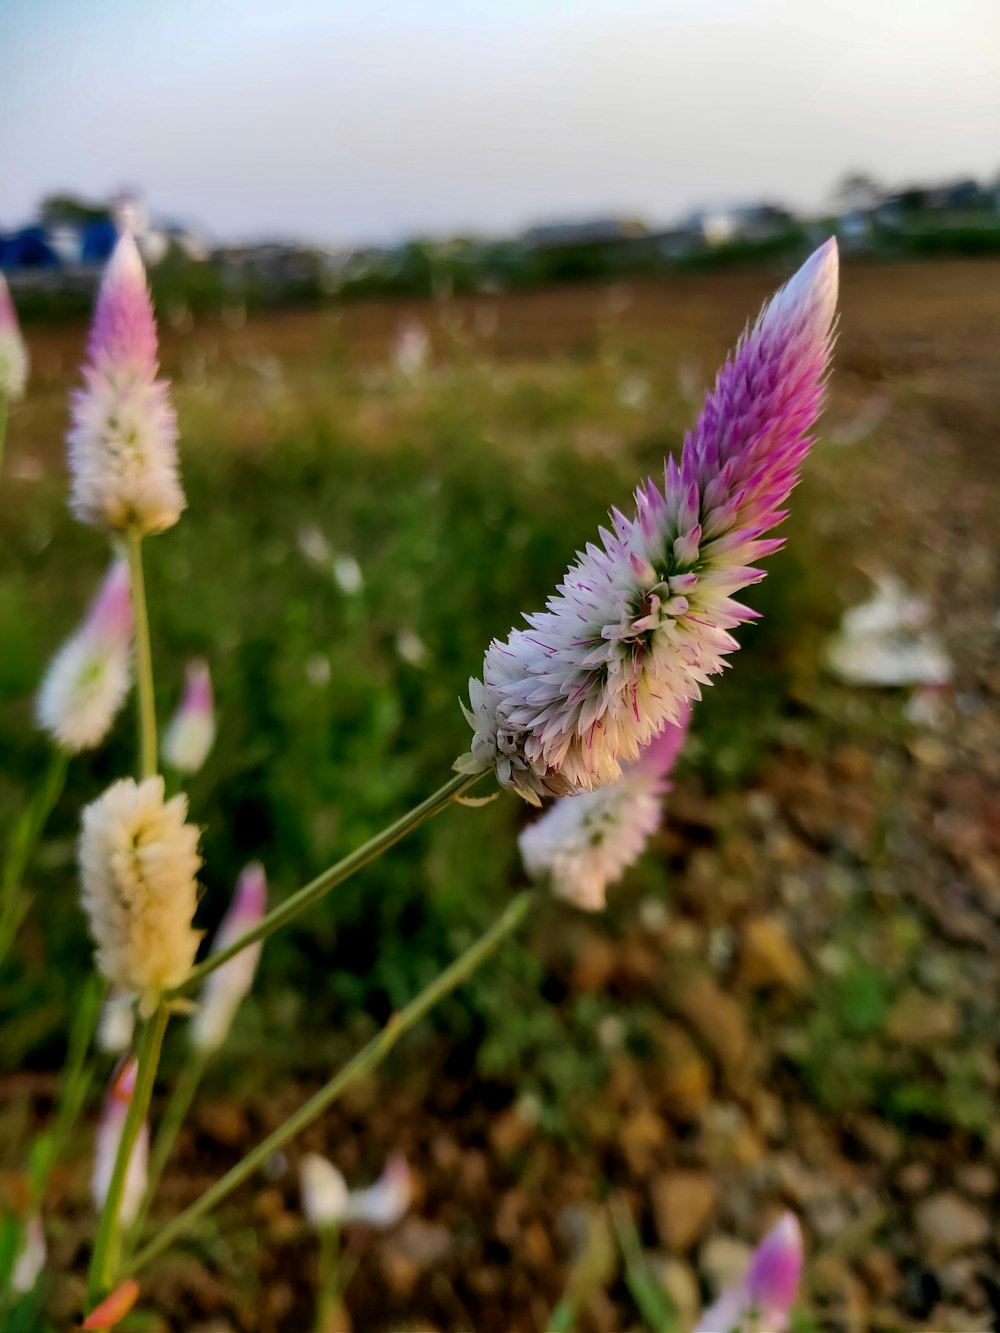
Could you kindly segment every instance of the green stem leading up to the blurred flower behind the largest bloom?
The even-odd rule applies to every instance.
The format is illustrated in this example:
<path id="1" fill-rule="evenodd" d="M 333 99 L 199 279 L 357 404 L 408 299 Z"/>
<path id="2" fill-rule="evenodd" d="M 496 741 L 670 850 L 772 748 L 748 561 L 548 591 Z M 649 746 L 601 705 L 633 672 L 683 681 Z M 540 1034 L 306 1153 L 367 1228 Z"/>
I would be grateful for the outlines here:
<path id="1" fill-rule="evenodd" d="M 151 1260 L 168 1249 L 179 1236 L 191 1230 L 195 1222 L 209 1213 L 216 1204 L 220 1204 L 227 1194 L 232 1193 L 237 1185 L 241 1185 L 257 1168 L 263 1166 L 272 1153 L 284 1148 L 289 1140 L 295 1138 L 307 1125 L 311 1125 L 317 1116 L 321 1116 L 351 1084 L 377 1069 L 399 1038 L 405 1032 L 409 1032 L 439 1000 L 461 985 L 476 970 L 480 962 L 488 958 L 496 946 L 516 930 L 533 901 L 535 893 L 532 890 L 525 890 L 524 893 L 519 893 L 516 898 L 512 898 L 503 914 L 475 944 L 469 945 L 455 962 L 445 968 L 440 976 L 435 977 L 431 985 L 421 990 L 415 1000 L 411 1000 L 405 1009 L 393 1014 L 383 1030 L 372 1037 L 368 1045 L 363 1046 L 339 1074 L 320 1088 L 284 1125 L 280 1125 L 272 1134 L 268 1134 L 267 1138 L 257 1144 L 232 1170 L 228 1170 L 215 1185 L 211 1185 L 189 1208 L 185 1208 L 183 1213 L 179 1213 L 172 1221 L 167 1222 L 157 1236 L 125 1265 L 121 1276 L 133 1277 L 141 1268 L 145 1268 Z"/>

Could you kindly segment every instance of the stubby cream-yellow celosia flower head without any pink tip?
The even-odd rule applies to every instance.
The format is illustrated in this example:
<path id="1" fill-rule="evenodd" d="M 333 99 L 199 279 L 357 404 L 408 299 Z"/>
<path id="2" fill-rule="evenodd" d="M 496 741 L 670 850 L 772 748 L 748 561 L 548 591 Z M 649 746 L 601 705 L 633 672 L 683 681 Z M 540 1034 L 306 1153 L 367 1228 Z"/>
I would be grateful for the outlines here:
<path id="1" fill-rule="evenodd" d="M 113 782 L 83 812 L 80 882 L 100 972 L 140 996 L 140 1013 L 191 970 L 200 934 L 191 929 L 201 865 L 188 801 L 164 802 L 161 777 Z"/>

